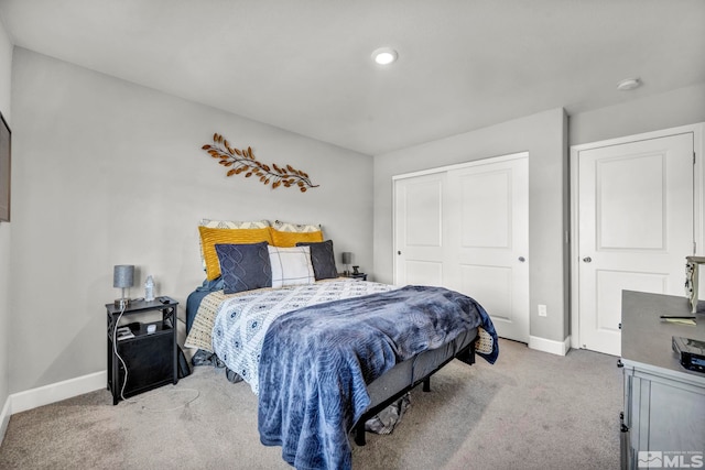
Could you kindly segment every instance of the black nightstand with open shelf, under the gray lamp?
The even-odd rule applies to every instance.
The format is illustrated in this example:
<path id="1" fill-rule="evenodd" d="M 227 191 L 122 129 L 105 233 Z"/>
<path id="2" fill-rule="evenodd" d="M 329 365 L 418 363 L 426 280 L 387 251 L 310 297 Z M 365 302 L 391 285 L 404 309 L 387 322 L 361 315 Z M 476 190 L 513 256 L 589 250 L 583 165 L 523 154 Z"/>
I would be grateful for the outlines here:
<path id="1" fill-rule="evenodd" d="M 132 302 L 124 308 L 122 318 L 161 311 L 162 319 L 141 324 L 138 321 L 121 325 L 129 327 L 132 338 L 117 340 L 117 349 L 127 364 L 128 381 L 124 396 L 137 395 L 158 386 L 178 382 L 176 309 L 178 303 L 171 297 L 158 297 L 151 302 Z M 120 317 L 120 307 L 106 304 L 108 320 L 108 390 L 112 393 L 112 404 L 121 400 L 120 391 L 124 381 L 124 367 L 117 358 L 112 347 L 116 321 Z M 154 325 L 155 331 L 148 327 Z"/>

